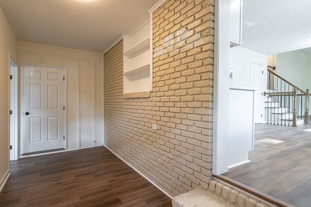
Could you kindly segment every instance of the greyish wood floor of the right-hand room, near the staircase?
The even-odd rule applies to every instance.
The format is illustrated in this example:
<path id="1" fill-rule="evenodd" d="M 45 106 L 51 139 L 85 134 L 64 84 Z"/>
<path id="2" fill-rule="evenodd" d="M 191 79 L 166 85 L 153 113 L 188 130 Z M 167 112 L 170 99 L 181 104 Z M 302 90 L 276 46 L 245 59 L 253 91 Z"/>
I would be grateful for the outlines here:
<path id="1" fill-rule="evenodd" d="M 311 206 L 311 131 L 304 131 L 310 128 L 255 125 L 251 162 L 223 175 L 296 207 Z"/>

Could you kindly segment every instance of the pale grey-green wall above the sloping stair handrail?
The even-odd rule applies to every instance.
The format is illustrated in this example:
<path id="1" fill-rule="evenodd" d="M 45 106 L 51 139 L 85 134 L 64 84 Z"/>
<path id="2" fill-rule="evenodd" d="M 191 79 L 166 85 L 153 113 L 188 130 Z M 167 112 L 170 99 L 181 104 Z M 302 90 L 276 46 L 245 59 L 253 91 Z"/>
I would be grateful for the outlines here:
<path id="1" fill-rule="evenodd" d="M 311 89 L 311 54 L 300 50 L 277 54 L 276 74 L 304 91 Z"/>

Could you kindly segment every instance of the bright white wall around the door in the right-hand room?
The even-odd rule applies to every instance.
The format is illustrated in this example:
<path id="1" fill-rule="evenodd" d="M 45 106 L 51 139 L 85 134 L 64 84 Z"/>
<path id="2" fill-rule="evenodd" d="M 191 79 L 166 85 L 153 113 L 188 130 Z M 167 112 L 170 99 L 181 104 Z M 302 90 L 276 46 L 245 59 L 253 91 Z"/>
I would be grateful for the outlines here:
<path id="1" fill-rule="evenodd" d="M 237 87 L 250 86 L 250 62 L 262 64 L 264 77 L 267 74 L 267 55 L 235 46 L 230 48 L 230 64 L 233 66 L 232 85 Z M 229 70 L 229 69 L 228 69 Z M 266 83 L 266 80 L 265 80 Z"/>

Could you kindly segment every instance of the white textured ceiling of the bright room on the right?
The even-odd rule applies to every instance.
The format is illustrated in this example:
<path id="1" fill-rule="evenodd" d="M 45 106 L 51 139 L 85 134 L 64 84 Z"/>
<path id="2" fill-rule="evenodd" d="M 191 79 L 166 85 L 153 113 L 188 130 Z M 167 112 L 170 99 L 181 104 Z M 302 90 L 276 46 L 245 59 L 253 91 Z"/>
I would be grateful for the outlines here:
<path id="1" fill-rule="evenodd" d="M 311 0 L 243 0 L 242 47 L 271 55 L 311 47 Z"/>

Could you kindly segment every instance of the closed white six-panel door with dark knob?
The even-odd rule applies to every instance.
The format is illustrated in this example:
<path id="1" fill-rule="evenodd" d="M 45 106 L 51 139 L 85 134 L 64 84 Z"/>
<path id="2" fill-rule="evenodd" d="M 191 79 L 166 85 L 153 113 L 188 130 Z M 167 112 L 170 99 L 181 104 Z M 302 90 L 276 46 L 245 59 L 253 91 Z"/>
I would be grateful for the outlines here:
<path id="1" fill-rule="evenodd" d="M 23 64 L 24 153 L 64 148 L 64 69 Z"/>

